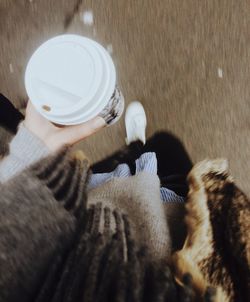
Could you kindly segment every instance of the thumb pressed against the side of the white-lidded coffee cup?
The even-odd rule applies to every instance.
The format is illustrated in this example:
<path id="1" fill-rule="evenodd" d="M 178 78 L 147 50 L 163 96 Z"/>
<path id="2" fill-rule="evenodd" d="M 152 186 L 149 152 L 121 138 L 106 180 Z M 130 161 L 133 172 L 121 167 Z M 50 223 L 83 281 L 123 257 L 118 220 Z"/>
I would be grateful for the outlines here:
<path id="1" fill-rule="evenodd" d="M 60 136 L 59 140 L 61 140 L 64 144 L 73 145 L 80 140 L 94 134 L 105 126 L 105 120 L 102 117 L 97 116 L 83 124 L 62 128 L 58 133 Z"/>

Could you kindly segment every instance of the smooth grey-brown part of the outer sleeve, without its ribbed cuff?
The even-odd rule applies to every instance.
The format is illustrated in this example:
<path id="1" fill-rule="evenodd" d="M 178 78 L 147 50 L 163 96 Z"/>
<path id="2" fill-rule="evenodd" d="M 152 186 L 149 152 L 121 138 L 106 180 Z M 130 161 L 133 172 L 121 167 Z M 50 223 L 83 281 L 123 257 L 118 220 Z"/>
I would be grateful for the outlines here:
<path id="1" fill-rule="evenodd" d="M 76 228 L 66 201 L 55 199 L 62 185 L 58 175 L 34 172 L 24 171 L 0 186 L 0 301 L 33 301 Z"/>

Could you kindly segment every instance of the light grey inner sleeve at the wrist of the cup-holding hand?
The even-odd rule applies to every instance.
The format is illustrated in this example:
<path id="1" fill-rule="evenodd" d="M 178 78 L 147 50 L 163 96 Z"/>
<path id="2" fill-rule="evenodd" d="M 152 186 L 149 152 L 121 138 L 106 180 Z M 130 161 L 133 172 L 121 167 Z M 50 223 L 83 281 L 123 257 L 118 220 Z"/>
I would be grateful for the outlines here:
<path id="1" fill-rule="evenodd" d="M 29 165 L 49 154 L 47 146 L 23 123 L 10 143 L 10 152 L 0 162 L 0 182 L 6 182 Z"/>

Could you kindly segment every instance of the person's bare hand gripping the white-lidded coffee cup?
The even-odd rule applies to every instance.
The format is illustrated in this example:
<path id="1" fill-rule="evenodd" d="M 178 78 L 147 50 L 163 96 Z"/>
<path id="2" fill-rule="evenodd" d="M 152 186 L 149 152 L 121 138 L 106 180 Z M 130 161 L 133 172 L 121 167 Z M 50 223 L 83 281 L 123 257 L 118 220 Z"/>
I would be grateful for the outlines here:
<path id="1" fill-rule="evenodd" d="M 30 101 L 24 120 L 24 126 L 40 138 L 51 151 L 56 151 L 64 145 L 73 145 L 105 125 L 104 119 L 98 116 L 80 125 L 59 127 L 44 118 Z"/>

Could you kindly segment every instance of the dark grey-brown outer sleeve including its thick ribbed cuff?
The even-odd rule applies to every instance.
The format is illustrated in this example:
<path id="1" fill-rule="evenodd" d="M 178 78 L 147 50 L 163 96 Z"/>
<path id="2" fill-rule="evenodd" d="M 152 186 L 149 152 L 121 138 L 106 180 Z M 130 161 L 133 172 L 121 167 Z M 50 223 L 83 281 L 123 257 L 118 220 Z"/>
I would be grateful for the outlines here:
<path id="1" fill-rule="evenodd" d="M 57 289 L 75 255 L 87 179 L 87 163 L 63 148 L 0 184 L 1 302 L 48 301 Z"/>

